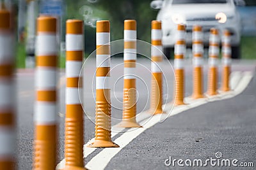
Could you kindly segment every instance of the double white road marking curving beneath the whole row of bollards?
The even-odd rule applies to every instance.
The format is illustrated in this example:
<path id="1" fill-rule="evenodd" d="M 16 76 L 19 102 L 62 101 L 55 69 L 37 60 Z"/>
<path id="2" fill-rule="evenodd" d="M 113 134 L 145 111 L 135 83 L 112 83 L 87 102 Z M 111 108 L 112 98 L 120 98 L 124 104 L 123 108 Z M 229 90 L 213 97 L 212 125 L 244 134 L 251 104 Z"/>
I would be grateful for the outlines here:
<path id="1" fill-rule="evenodd" d="M 139 113 L 136 117 L 136 120 L 140 122 L 141 125 L 143 125 L 142 128 L 137 129 L 129 129 L 129 131 L 124 132 L 122 136 L 117 138 L 114 142 L 118 143 L 120 145 L 120 148 L 104 148 L 100 153 L 98 153 L 93 159 L 91 159 L 88 164 L 86 164 L 86 168 L 88 169 L 104 169 L 109 161 L 115 157 L 115 155 L 122 150 L 127 144 L 129 144 L 134 138 L 139 136 L 143 131 L 147 130 L 148 128 L 152 127 L 153 125 L 157 124 L 158 122 L 163 122 L 165 119 L 164 116 L 171 117 L 173 115 L 177 115 L 178 113 L 181 113 L 182 111 L 189 110 L 190 108 L 195 108 L 197 106 L 201 106 L 202 104 L 209 103 L 211 101 L 219 101 L 223 99 L 228 99 L 234 96 L 237 96 L 237 94 L 240 94 L 243 92 L 244 89 L 246 89 L 247 85 L 250 83 L 250 80 L 252 80 L 253 73 L 251 72 L 244 72 L 243 74 L 239 71 L 236 71 L 231 74 L 230 76 L 230 87 L 231 89 L 234 89 L 230 92 L 223 92 L 219 95 L 216 95 L 214 97 L 209 98 L 203 98 L 203 99 L 197 99 L 197 100 L 191 100 L 189 97 L 186 97 L 186 101 L 189 102 L 189 104 L 181 105 L 181 106 L 175 106 L 173 108 L 173 104 L 166 104 L 163 106 L 164 111 L 166 113 L 170 113 L 169 115 L 162 114 L 162 115 L 155 115 L 152 117 L 152 115 L 148 114 L 147 111 Z M 173 110 L 172 110 L 173 108 Z M 152 117 L 152 118 L 149 118 Z M 116 126 L 113 126 L 111 137 L 113 138 L 118 134 L 120 131 L 124 130 L 124 128 L 118 128 Z M 94 141 L 94 138 L 88 141 L 84 145 L 84 158 L 86 158 L 88 155 L 93 153 L 97 148 L 88 148 L 87 145 L 92 143 Z M 100 164 L 99 164 L 100 161 Z M 63 169 L 65 167 L 65 159 L 61 160 L 61 162 L 56 166 L 56 169 Z"/>

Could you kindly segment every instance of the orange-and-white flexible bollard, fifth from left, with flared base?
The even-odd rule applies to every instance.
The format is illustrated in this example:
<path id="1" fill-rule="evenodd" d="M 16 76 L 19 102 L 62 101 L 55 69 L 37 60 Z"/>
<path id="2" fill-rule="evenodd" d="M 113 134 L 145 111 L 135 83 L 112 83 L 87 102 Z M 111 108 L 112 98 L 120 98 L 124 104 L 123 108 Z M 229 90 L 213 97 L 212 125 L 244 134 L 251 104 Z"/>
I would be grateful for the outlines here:
<path id="1" fill-rule="evenodd" d="M 136 20 L 124 21 L 124 101 L 119 127 L 141 127 L 136 122 Z"/>

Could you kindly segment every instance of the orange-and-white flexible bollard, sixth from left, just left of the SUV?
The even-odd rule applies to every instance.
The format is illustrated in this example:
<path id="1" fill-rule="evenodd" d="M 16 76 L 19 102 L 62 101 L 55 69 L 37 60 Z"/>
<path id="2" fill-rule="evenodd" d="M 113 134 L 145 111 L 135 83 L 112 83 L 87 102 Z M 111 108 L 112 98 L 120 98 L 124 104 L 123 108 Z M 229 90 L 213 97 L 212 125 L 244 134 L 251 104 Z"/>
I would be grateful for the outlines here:
<path id="1" fill-rule="evenodd" d="M 162 23 L 153 20 L 151 22 L 151 100 L 150 112 L 153 114 L 163 113 L 163 73 L 161 64 L 163 62 L 162 46 Z"/>

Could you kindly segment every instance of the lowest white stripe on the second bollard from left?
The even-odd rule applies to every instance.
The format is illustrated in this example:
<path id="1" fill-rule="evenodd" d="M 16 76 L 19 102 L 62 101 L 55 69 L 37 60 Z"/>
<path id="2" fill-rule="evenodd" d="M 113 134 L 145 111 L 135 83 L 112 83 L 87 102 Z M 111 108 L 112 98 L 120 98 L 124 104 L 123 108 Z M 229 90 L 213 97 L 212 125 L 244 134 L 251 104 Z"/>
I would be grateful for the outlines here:
<path id="1" fill-rule="evenodd" d="M 56 124 L 56 103 L 36 101 L 35 124 Z"/>

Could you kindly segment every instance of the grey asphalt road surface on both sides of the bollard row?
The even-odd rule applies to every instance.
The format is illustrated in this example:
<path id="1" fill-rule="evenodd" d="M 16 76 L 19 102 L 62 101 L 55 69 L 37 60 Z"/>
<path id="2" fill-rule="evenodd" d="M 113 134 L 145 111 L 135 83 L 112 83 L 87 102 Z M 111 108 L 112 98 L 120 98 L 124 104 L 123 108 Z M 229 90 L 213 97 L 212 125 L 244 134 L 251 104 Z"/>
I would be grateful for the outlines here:
<path id="1" fill-rule="evenodd" d="M 137 112 L 148 110 L 150 94 L 150 60 L 139 59 L 138 70 L 138 105 Z M 254 71 L 255 61 L 234 62 L 232 71 Z M 122 59 L 111 60 L 111 103 L 112 123 L 122 118 Z M 84 66 L 84 97 L 86 112 L 84 118 L 84 141 L 94 138 L 95 100 L 93 89 L 95 80 L 95 61 L 88 60 Z M 205 89 L 207 67 L 204 68 Z M 173 71 L 168 62 L 164 62 L 165 74 L 164 102 L 172 101 Z M 35 101 L 33 69 L 17 71 L 17 112 L 18 112 L 18 166 L 19 169 L 31 169 L 33 162 L 33 104 Z M 119 79 L 118 79 L 119 78 Z M 248 88 L 237 97 L 205 104 L 198 108 L 184 111 L 168 118 L 162 124 L 143 132 L 129 145 L 123 148 L 109 162 L 106 169 L 170 169 L 164 160 L 173 159 L 207 159 L 221 152 L 228 159 L 255 162 L 255 78 Z M 64 158 L 64 122 L 65 122 L 65 71 L 60 70 L 59 90 L 59 132 L 58 162 Z M 192 93 L 191 60 L 186 62 L 186 93 Z M 88 116 L 88 117 L 87 117 Z M 100 149 L 95 153 L 99 153 Z M 85 162 L 92 159 L 93 153 Z M 124 164 L 125 162 L 125 164 Z M 256 162 L 254 163 L 256 166 Z M 177 167 L 177 166 L 175 166 Z M 185 169 L 191 169 L 190 167 Z"/>

